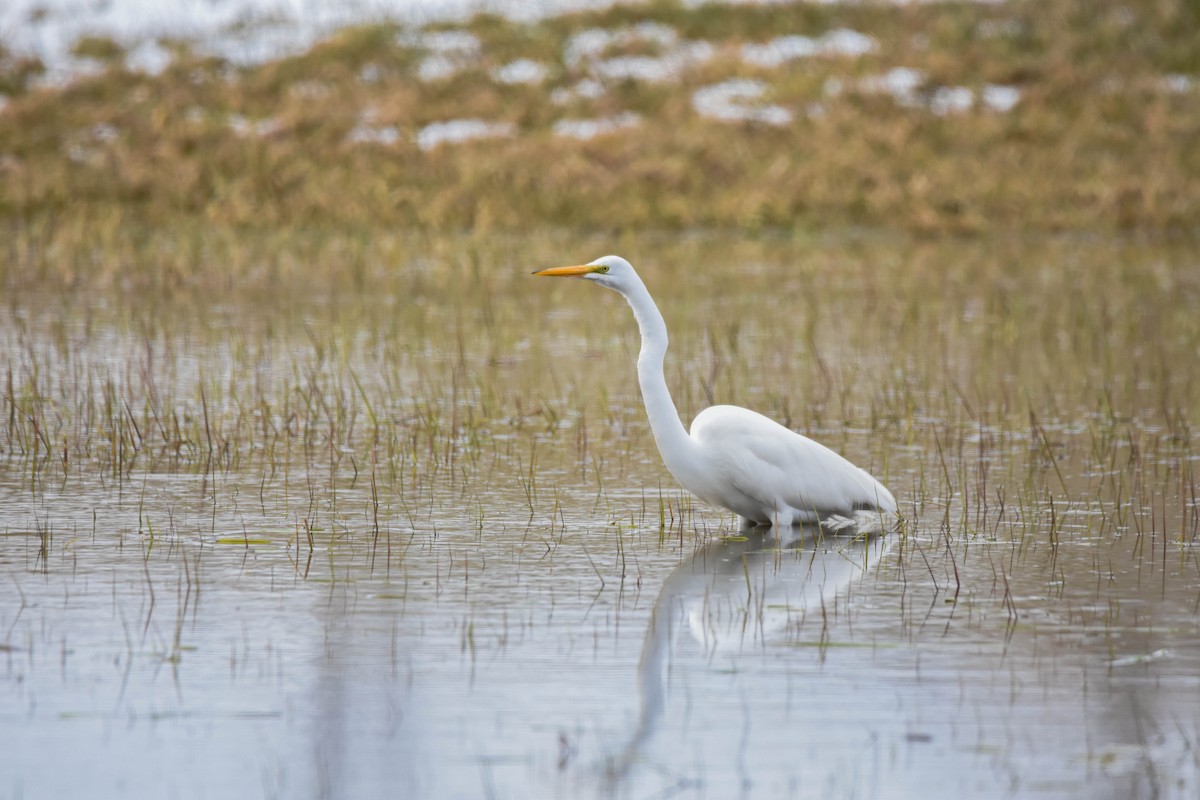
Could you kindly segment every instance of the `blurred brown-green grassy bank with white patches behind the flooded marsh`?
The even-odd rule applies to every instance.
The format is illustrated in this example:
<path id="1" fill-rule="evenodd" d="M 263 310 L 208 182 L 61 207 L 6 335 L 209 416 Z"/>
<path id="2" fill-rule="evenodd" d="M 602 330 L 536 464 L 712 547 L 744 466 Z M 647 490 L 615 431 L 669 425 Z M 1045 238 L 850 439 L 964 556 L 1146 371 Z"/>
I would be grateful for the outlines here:
<path id="1" fill-rule="evenodd" d="M 1194 231 L 1198 19 L 1194 4 L 652 2 L 476 17 L 454 26 L 476 42 L 457 52 L 391 24 L 253 66 L 167 43 L 155 76 L 85 40 L 77 54 L 98 71 L 65 88 L 0 58 L 0 216 L 101 230 Z M 780 64 L 744 49 L 841 29 L 871 46 Z M 587 30 L 607 40 L 581 56 Z M 505 83 L 497 71 L 520 59 L 540 82 Z M 655 60 L 670 74 L 634 74 Z M 698 90 L 739 78 L 758 82 L 733 103 L 749 119 L 698 112 Z M 997 91 L 1010 108 L 984 102 Z M 768 108 L 786 122 L 755 116 Z M 451 120 L 492 133 L 433 142 Z M 563 134 L 595 120 L 620 122 Z"/>

